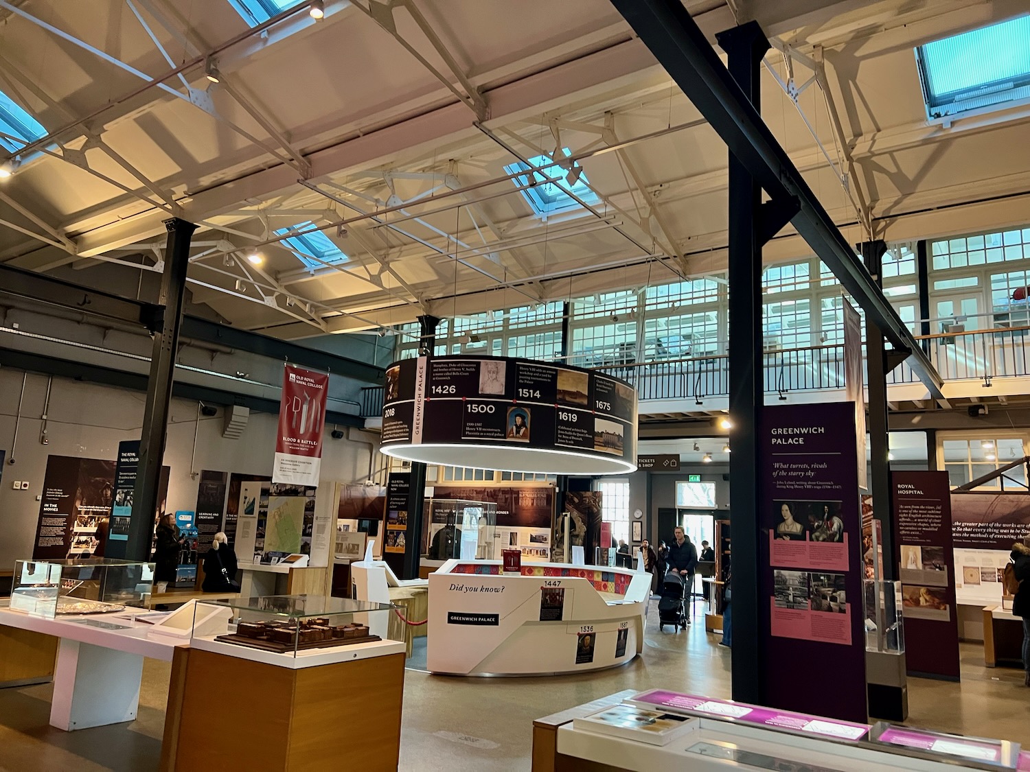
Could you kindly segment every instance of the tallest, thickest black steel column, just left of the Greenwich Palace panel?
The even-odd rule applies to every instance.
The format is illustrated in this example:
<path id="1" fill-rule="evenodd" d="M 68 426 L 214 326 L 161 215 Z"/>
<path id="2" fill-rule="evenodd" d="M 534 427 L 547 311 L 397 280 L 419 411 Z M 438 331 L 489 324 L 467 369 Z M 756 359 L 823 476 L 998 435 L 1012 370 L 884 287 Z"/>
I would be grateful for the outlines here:
<path id="1" fill-rule="evenodd" d="M 760 107 L 759 71 L 769 44 L 755 22 L 716 35 L 728 57 L 730 75 Z M 761 187 L 729 152 L 729 479 L 733 487 L 729 532 L 732 542 L 732 694 L 761 704 L 758 654 L 758 431 L 765 401 L 762 369 Z"/>

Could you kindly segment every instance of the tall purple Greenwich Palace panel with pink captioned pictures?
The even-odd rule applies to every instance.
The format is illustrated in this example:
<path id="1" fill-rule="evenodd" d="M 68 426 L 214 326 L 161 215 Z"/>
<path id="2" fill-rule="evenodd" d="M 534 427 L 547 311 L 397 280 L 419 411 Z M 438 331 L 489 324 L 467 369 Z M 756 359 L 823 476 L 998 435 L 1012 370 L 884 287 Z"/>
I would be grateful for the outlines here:
<path id="1" fill-rule="evenodd" d="M 855 405 L 766 407 L 759 428 L 761 702 L 864 722 Z"/>

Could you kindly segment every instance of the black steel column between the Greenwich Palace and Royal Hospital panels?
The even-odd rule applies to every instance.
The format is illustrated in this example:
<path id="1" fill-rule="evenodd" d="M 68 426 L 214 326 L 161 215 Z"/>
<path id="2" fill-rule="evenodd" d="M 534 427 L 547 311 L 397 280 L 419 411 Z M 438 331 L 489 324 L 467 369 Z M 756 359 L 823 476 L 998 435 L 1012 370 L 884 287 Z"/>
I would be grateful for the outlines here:
<path id="1" fill-rule="evenodd" d="M 866 241 L 858 245 L 865 268 L 878 286 L 883 286 L 883 257 L 887 244 Z M 894 560 L 894 519 L 891 517 L 891 465 L 887 441 L 887 354 L 884 334 L 880 326 L 865 316 L 865 366 L 869 389 L 869 488 L 872 493 L 872 517 L 883 524 L 884 576 L 893 580 L 896 573 Z"/>

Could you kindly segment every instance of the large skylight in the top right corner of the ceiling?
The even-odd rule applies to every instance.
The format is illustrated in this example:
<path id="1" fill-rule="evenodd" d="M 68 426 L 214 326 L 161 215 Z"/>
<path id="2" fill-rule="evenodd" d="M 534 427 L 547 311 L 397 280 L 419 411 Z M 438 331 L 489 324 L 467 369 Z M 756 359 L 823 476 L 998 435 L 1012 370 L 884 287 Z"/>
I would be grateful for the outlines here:
<path id="1" fill-rule="evenodd" d="M 916 61 L 932 121 L 1030 102 L 1030 16 L 917 46 Z"/>

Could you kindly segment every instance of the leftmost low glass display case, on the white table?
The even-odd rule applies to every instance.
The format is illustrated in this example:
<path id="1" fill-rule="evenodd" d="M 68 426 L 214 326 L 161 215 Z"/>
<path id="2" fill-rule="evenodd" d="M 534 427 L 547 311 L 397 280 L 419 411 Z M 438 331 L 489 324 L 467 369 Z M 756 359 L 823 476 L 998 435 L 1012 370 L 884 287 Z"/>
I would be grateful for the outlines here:
<path id="1" fill-rule="evenodd" d="M 112 558 L 19 560 L 9 607 L 47 619 L 109 613 L 126 606 L 149 608 L 152 587 L 153 563 Z"/>

